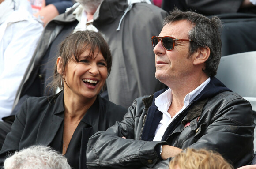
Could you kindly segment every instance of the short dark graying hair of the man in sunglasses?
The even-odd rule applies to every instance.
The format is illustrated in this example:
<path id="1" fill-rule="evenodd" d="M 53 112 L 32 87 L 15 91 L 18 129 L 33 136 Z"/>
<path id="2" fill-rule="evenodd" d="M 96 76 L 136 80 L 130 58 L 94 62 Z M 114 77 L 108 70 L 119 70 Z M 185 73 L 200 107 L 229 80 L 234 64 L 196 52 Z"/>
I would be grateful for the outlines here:
<path id="1" fill-rule="evenodd" d="M 221 58 L 221 20 L 217 16 L 208 18 L 192 11 L 183 12 L 175 8 L 164 19 L 163 24 L 184 19 L 192 24 L 192 29 L 188 32 L 189 39 L 193 40 L 190 41 L 189 54 L 192 55 L 199 48 L 209 47 L 210 56 L 203 71 L 209 76 L 216 75 Z"/>

